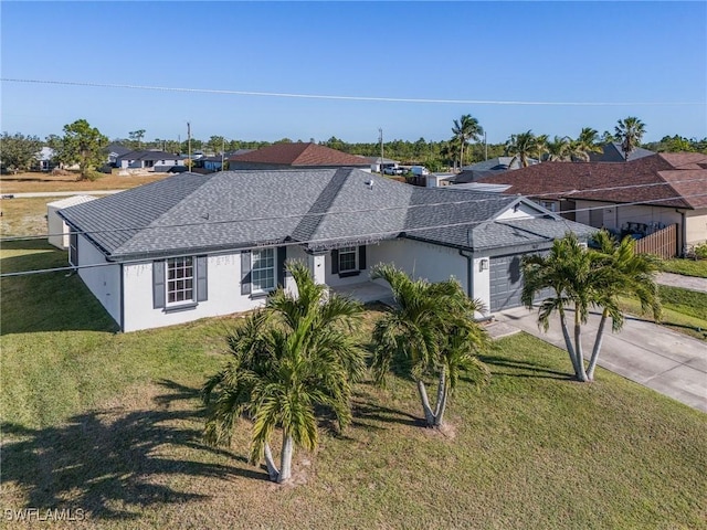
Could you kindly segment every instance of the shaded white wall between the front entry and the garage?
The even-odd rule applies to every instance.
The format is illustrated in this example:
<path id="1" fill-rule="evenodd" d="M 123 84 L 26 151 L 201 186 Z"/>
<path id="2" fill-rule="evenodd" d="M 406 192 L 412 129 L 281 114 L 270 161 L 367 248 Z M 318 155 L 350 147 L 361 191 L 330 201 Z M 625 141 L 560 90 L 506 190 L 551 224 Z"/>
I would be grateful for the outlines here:
<path id="1" fill-rule="evenodd" d="M 413 278 L 443 282 L 453 276 L 467 290 L 467 262 L 455 248 L 413 240 L 384 241 L 368 246 L 369 266 L 391 263 Z M 384 284 L 382 280 L 378 280 Z"/>

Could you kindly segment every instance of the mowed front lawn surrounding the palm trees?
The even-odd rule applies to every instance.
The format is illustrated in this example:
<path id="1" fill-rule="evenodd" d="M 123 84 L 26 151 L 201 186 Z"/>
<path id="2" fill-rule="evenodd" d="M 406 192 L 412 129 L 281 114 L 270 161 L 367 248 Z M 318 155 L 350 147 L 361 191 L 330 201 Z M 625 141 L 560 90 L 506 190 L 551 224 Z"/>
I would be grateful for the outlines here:
<path id="1" fill-rule="evenodd" d="M 229 449 L 201 441 L 198 389 L 236 318 L 115 333 L 80 284 L 34 278 L 0 283 L 3 319 L 27 307 L 1 337 L 6 509 L 82 508 L 73 526 L 109 529 L 707 528 L 707 415 L 604 370 L 574 383 L 567 354 L 530 336 L 484 358 L 487 386 L 461 382 L 445 435 L 419 426 L 410 381 L 358 385 L 354 424 L 323 424 L 316 454 L 295 452 L 295 484 L 277 487 L 245 463 L 247 424 Z M 369 308 L 363 340 L 379 316 Z"/>

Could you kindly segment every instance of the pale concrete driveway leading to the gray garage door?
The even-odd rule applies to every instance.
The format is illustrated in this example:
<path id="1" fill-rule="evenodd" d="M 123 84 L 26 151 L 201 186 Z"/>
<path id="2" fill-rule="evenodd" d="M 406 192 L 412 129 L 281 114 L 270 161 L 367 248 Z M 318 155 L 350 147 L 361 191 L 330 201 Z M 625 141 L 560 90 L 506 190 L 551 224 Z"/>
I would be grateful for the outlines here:
<path id="1" fill-rule="evenodd" d="M 573 314 L 569 318 L 573 321 Z M 537 321 L 537 310 L 529 311 L 524 307 L 509 309 L 496 315 L 489 332 L 502 336 L 521 330 L 564 350 L 559 318 L 551 320 L 547 333 L 538 329 Z M 587 357 L 591 354 L 598 325 L 599 315 L 591 315 L 582 327 Z M 619 333 L 611 332 L 610 322 L 606 328 L 599 365 L 707 412 L 707 342 L 632 318 L 626 318 Z M 567 363 L 571 372 L 569 358 Z"/>

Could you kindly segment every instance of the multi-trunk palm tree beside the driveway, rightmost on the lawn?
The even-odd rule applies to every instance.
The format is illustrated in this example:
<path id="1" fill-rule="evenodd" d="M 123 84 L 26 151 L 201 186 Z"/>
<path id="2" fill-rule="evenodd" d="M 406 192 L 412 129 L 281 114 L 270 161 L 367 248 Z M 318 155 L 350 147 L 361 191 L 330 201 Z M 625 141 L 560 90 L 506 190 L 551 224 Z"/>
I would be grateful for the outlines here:
<path id="1" fill-rule="evenodd" d="M 523 258 L 524 288 L 521 300 L 532 308 L 538 293 L 551 289 L 553 295 L 546 298 L 538 311 L 538 326 L 549 329 L 550 317 L 557 312 L 564 344 L 578 381 L 592 381 L 594 368 L 601 350 L 605 321 L 612 318 L 612 329 L 619 331 L 623 316 L 618 297 L 635 295 L 655 315 L 659 312 L 657 288 L 653 280 L 654 262 L 634 253 L 634 242 L 624 239 L 620 245 L 605 233 L 599 233 L 600 251 L 585 248 L 577 235 L 569 233 L 556 240 L 547 256 L 526 255 Z M 574 314 L 573 340 L 567 325 L 567 309 Z M 592 349 L 589 367 L 584 363 L 582 350 L 582 325 L 587 324 L 592 308 L 602 310 L 602 319 Z"/>

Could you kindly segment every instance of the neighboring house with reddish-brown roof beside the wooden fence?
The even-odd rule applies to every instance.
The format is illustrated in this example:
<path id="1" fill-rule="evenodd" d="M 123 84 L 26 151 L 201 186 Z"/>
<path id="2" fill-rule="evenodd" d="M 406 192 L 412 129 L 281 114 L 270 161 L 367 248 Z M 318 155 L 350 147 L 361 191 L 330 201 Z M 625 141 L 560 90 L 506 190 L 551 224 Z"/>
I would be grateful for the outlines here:
<path id="1" fill-rule="evenodd" d="M 627 162 L 544 162 L 487 177 L 567 219 L 639 235 L 677 224 L 677 248 L 707 241 L 707 155 L 661 152 Z"/>

